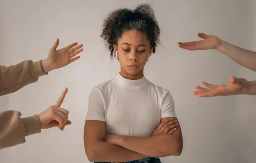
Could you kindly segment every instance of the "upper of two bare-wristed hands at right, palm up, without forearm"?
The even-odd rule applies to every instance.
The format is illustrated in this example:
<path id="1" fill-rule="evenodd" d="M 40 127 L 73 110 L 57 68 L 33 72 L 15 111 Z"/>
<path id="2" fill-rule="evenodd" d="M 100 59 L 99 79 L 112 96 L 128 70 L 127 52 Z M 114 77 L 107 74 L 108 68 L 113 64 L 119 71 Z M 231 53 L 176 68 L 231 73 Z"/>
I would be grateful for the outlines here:
<path id="1" fill-rule="evenodd" d="M 192 42 L 178 42 L 180 48 L 186 50 L 207 50 L 207 49 L 217 49 L 221 44 L 220 39 L 213 35 L 207 35 L 204 33 L 198 33 L 198 37 L 203 40 L 192 41 Z"/>

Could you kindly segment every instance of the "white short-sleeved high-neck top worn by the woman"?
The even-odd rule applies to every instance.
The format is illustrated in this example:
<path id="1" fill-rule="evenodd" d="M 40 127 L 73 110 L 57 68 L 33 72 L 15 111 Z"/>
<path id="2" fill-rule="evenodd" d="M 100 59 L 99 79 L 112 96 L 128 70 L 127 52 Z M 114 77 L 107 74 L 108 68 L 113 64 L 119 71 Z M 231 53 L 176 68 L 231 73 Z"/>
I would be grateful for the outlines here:
<path id="1" fill-rule="evenodd" d="M 129 80 L 118 73 L 92 89 L 85 121 L 104 121 L 110 134 L 148 137 L 165 117 L 177 118 L 168 90 L 145 76 Z"/>

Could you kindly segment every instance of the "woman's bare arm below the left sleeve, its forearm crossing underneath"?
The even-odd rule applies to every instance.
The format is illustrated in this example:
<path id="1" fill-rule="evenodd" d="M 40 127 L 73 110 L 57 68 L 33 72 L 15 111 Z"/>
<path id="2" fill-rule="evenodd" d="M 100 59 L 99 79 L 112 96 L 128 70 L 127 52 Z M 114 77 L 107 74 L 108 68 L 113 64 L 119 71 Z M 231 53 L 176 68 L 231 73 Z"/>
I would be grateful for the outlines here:
<path id="1" fill-rule="evenodd" d="M 129 162 L 146 158 L 142 154 L 104 142 L 104 121 L 85 121 L 84 146 L 85 153 L 90 162 Z"/>

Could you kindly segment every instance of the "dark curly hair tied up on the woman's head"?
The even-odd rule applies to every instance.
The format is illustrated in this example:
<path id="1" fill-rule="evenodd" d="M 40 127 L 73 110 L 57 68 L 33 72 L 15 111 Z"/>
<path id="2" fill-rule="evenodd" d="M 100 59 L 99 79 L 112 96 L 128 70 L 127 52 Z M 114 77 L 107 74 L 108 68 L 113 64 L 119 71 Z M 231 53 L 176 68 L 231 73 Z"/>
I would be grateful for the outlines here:
<path id="1" fill-rule="evenodd" d="M 117 40 L 122 33 L 133 29 L 147 34 L 150 48 L 153 48 L 153 53 L 155 53 L 155 47 L 159 42 L 160 28 L 151 4 L 143 3 L 135 9 L 116 9 L 105 18 L 101 37 L 110 51 L 111 58 L 113 58 L 113 45 L 117 45 Z"/>

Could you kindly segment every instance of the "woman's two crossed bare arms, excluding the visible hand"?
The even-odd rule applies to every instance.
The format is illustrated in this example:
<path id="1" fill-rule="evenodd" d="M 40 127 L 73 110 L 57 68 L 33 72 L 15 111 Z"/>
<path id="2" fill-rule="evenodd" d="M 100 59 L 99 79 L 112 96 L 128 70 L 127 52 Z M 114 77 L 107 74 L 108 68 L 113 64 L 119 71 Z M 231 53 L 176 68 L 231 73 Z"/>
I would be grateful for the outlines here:
<path id="1" fill-rule="evenodd" d="M 85 122 L 84 145 L 90 162 L 128 162 L 146 157 L 180 155 L 183 139 L 180 125 L 172 134 L 146 138 L 107 134 L 106 137 L 105 122 L 89 120 Z"/>

